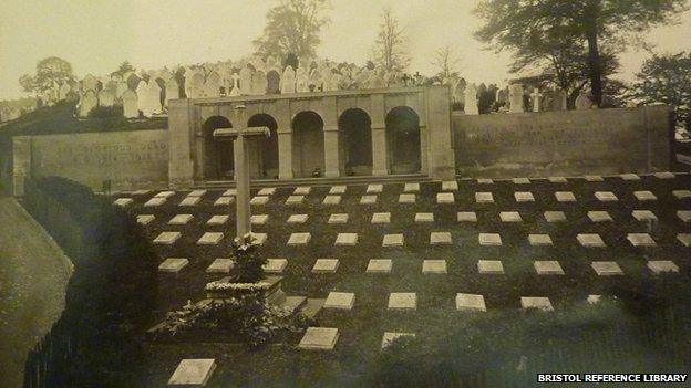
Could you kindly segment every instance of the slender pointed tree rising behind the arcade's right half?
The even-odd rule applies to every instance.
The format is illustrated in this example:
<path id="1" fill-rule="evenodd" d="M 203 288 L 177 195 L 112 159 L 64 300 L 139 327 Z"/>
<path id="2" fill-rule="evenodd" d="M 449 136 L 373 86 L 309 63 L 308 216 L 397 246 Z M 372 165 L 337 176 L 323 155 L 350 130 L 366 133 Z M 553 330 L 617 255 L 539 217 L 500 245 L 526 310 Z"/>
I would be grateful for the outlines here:
<path id="1" fill-rule="evenodd" d="M 410 64 L 405 51 L 405 33 L 391 8 L 383 11 L 383 21 L 373 48 L 373 62 L 386 72 L 399 73 Z"/>

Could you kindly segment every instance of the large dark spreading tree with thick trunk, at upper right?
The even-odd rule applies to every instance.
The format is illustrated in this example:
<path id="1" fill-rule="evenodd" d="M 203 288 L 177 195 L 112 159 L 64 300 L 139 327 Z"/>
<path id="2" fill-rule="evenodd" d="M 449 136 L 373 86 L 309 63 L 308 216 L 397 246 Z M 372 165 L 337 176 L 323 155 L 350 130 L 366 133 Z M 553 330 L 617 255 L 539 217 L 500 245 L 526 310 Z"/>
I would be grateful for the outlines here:
<path id="1" fill-rule="evenodd" d="M 543 42 L 587 48 L 585 63 L 592 101 L 602 103 L 602 45 L 621 52 L 651 27 L 671 22 L 687 0 L 484 0 L 475 12 L 486 24 L 476 38 L 497 51 L 526 50 Z"/>

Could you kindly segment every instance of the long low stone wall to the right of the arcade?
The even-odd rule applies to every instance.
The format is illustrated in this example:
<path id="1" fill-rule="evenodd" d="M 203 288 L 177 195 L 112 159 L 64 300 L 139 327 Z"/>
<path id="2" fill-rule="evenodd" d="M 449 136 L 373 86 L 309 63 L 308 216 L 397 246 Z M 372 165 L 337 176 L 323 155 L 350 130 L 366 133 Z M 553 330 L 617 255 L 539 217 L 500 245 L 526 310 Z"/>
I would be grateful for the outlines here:
<path id="1" fill-rule="evenodd" d="M 456 174 L 512 178 L 669 170 L 667 106 L 452 116 Z"/>

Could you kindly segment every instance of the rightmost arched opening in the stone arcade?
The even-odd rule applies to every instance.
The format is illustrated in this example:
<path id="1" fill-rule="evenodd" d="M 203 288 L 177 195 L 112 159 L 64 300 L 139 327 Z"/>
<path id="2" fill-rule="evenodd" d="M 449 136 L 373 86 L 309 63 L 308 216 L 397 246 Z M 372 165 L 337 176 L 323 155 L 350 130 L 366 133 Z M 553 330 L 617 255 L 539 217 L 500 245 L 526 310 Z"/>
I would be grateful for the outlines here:
<path id="1" fill-rule="evenodd" d="M 420 117 L 408 106 L 386 115 L 386 153 L 391 174 L 420 172 Z"/>

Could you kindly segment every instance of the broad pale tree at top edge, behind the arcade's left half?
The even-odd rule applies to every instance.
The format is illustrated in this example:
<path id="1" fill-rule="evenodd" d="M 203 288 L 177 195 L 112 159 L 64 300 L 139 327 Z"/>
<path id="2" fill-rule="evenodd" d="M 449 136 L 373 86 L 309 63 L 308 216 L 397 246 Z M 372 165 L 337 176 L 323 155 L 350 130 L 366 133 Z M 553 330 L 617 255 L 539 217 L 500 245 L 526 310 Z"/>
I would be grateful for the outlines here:
<path id="1" fill-rule="evenodd" d="M 252 42 L 257 54 L 313 57 L 321 43 L 319 32 L 329 23 L 323 14 L 329 7 L 328 0 L 280 0 L 267 13 L 264 34 Z"/>

